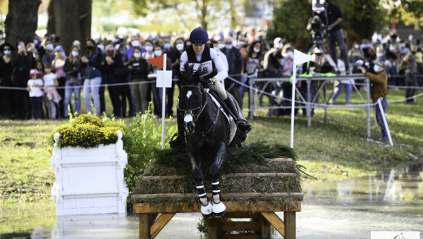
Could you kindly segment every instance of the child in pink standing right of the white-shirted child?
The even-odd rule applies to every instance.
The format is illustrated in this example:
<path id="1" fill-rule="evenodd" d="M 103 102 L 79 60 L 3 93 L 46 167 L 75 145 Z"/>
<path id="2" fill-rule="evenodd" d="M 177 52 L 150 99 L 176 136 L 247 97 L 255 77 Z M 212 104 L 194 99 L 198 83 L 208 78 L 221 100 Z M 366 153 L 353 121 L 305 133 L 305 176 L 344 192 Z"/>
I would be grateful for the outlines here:
<path id="1" fill-rule="evenodd" d="M 46 74 L 42 78 L 44 81 L 44 93 L 45 93 L 45 101 L 49 119 L 56 119 L 56 105 L 59 105 L 61 101 L 61 96 L 59 92 L 56 91 L 54 87 L 59 86 L 59 82 L 57 81 L 56 74 L 51 72 L 51 64 L 45 63 L 44 70 Z"/>

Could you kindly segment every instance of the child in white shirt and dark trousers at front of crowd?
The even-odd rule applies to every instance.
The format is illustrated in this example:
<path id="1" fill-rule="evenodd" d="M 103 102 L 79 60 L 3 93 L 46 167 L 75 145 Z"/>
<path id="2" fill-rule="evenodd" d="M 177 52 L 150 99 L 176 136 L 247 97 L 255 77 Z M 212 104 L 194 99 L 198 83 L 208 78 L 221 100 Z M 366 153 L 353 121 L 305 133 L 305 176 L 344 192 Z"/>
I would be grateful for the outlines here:
<path id="1" fill-rule="evenodd" d="M 32 120 L 41 120 L 42 117 L 42 79 L 37 78 L 37 69 L 30 70 L 31 79 L 27 82 L 27 91 L 30 92 Z"/>

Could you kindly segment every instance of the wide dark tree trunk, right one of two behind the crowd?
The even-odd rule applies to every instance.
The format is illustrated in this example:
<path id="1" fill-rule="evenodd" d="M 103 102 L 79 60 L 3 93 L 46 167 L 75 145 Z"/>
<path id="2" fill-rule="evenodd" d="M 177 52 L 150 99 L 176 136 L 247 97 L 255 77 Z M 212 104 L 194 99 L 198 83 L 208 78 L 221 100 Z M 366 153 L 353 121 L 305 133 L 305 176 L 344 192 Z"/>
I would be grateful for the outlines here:
<path id="1" fill-rule="evenodd" d="M 51 0 L 47 31 L 61 38 L 66 53 L 71 51 L 73 41 L 79 40 L 82 51 L 85 39 L 91 37 L 92 0 Z"/>

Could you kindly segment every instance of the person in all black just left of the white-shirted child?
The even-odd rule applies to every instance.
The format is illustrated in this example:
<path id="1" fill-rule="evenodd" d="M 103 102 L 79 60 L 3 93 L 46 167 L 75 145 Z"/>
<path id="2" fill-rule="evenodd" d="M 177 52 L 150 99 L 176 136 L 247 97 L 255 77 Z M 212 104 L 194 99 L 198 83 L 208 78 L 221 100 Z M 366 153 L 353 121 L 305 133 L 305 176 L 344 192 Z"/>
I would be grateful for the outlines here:
<path id="1" fill-rule="evenodd" d="M 16 45 L 18 53 L 12 57 L 11 63 L 13 66 L 13 86 L 26 87 L 28 76 L 33 65 L 33 58 L 27 53 L 23 41 L 18 41 Z M 20 120 L 26 120 L 29 116 L 30 98 L 25 91 L 16 91 L 15 101 L 12 107 L 16 110 L 15 117 Z"/>

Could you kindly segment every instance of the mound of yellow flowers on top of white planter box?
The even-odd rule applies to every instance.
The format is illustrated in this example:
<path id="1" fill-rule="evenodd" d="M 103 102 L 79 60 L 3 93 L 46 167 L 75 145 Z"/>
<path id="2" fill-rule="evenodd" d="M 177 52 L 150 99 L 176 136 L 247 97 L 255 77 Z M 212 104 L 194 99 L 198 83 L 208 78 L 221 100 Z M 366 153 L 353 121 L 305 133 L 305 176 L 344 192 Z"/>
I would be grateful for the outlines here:
<path id="1" fill-rule="evenodd" d="M 67 146 L 94 148 L 101 143 L 104 145 L 116 143 L 118 129 L 122 131 L 123 140 L 125 140 L 126 126 L 123 122 L 115 122 L 105 116 L 101 120 L 96 115 L 90 114 L 71 116 L 68 123 L 51 131 L 49 141 L 51 145 L 54 145 L 54 134 L 59 132 L 60 138 L 57 142 L 59 148 Z"/>

